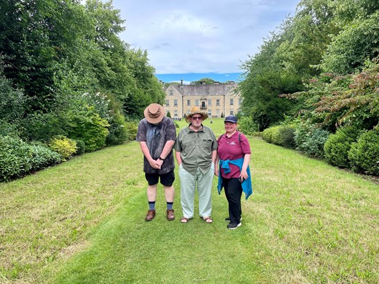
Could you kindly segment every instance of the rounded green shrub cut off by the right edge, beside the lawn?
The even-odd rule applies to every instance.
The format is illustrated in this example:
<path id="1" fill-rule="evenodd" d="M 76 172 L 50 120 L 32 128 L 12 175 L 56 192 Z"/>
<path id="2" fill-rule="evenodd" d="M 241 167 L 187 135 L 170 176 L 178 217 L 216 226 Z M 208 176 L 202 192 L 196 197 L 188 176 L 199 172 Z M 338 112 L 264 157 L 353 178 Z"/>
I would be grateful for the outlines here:
<path id="1" fill-rule="evenodd" d="M 369 130 L 352 143 L 349 151 L 351 169 L 355 172 L 379 175 L 379 130 Z"/>

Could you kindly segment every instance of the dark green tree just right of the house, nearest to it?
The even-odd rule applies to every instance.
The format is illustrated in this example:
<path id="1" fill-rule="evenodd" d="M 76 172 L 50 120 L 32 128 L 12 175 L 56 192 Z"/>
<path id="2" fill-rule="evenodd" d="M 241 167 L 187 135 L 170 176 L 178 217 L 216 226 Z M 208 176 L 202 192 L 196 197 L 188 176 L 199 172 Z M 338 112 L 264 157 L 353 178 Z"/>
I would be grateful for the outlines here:
<path id="1" fill-rule="evenodd" d="M 291 21 L 286 23 L 291 26 Z M 272 33 L 261 46 L 260 53 L 246 61 L 245 79 L 240 83 L 243 98 L 242 112 L 251 116 L 264 130 L 293 114 L 295 102 L 279 97 L 280 94 L 302 90 L 302 81 L 294 66 L 286 64 L 277 50 L 285 44 L 291 34 Z"/>

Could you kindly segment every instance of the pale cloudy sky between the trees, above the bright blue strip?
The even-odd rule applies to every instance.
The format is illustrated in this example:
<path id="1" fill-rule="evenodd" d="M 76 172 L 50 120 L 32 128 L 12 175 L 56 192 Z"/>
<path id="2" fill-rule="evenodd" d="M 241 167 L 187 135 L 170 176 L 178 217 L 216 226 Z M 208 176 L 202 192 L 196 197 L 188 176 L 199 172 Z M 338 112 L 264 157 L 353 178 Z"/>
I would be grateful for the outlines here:
<path id="1" fill-rule="evenodd" d="M 105 0 L 104 0 L 105 1 Z M 157 74 L 242 72 L 241 62 L 300 0 L 113 0 L 119 37 L 148 51 Z"/>

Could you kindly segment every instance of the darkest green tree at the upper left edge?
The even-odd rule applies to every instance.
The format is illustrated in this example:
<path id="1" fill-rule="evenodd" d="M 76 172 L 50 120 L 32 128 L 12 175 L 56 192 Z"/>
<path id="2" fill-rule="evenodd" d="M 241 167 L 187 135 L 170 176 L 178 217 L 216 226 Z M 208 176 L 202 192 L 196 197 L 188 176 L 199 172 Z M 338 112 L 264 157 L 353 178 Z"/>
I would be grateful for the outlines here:
<path id="1" fill-rule="evenodd" d="M 32 98 L 32 110 L 48 108 L 51 102 L 52 61 L 57 53 L 50 44 L 50 17 L 57 10 L 54 0 L 10 0 L 0 5 L 0 46 L 6 77 Z"/>

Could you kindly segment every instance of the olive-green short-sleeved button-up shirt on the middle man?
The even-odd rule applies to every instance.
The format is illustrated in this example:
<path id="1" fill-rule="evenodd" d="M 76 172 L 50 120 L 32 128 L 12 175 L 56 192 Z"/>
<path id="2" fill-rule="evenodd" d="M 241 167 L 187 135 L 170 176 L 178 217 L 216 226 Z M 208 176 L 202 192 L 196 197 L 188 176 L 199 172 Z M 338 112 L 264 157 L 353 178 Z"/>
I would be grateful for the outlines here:
<path id="1" fill-rule="evenodd" d="M 203 125 L 197 132 L 186 127 L 177 134 L 173 148 L 180 152 L 184 170 L 195 174 L 198 167 L 205 174 L 211 168 L 212 152 L 217 150 L 217 139 L 207 126 Z"/>

